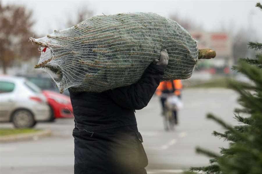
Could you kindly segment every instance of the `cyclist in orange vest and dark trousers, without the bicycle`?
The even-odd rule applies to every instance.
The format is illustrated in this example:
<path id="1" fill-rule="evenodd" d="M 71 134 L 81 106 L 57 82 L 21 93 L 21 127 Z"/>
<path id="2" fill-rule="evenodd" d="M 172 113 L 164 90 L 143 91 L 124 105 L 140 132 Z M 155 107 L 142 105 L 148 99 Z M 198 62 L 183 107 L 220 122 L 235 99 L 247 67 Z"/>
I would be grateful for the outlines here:
<path id="1" fill-rule="evenodd" d="M 156 89 L 156 95 L 160 97 L 161 106 L 162 106 L 162 115 L 165 115 L 165 101 L 167 96 L 174 94 L 181 99 L 181 80 L 170 80 L 163 81 L 159 84 Z M 177 110 L 173 110 L 175 124 L 178 124 Z"/>

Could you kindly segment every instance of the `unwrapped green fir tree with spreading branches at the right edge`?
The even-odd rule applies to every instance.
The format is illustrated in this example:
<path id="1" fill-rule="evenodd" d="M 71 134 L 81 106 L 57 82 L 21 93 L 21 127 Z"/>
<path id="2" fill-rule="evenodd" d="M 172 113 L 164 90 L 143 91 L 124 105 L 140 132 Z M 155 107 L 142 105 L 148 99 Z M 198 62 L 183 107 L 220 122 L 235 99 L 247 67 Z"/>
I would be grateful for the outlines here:
<path id="1" fill-rule="evenodd" d="M 260 3 L 256 4 L 262 9 Z M 220 154 L 197 148 L 213 159 L 206 167 L 192 167 L 190 171 L 206 174 L 261 174 L 262 173 L 262 44 L 249 42 L 249 48 L 259 51 L 254 59 L 240 59 L 234 70 L 246 75 L 252 83 L 229 81 L 229 87 L 240 94 L 243 108 L 235 110 L 238 126 L 230 126 L 218 117 L 208 114 L 209 119 L 227 129 L 213 135 L 229 141 L 229 148 L 221 148 Z M 244 116 L 249 115 L 249 116 Z M 190 173 L 190 172 L 188 172 Z"/>

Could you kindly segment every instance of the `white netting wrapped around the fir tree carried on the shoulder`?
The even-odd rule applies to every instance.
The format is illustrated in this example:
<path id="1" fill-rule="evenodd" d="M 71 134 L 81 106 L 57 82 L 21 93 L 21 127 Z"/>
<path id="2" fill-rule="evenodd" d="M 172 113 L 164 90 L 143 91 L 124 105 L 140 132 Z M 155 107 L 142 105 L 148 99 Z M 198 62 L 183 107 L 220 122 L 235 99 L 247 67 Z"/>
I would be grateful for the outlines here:
<path id="1" fill-rule="evenodd" d="M 154 13 L 95 16 L 40 39 L 36 68 L 51 70 L 60 92 L 102 92 L 137 82 L 166 49 L 163 80 L 187 79 L 197 63 L 196 41 L 177 22 Z M 47 48 L 46 48 L 47 47 Z"/>

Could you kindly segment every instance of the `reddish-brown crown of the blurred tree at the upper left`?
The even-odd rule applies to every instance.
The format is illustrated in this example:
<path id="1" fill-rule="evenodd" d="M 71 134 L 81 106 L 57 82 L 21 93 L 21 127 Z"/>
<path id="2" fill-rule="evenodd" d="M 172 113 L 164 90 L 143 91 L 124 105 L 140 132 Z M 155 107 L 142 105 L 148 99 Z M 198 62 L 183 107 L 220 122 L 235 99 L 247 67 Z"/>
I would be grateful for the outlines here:
<path id="1" fill-rule="evenodd" d="M 33 35 L 32 11 L 17 5 L 3 6 L 0 1 L 0 63 L 3 73 L 15 59 L 30 59 L 38 55 L 37 49 L 28 42 Z"/>

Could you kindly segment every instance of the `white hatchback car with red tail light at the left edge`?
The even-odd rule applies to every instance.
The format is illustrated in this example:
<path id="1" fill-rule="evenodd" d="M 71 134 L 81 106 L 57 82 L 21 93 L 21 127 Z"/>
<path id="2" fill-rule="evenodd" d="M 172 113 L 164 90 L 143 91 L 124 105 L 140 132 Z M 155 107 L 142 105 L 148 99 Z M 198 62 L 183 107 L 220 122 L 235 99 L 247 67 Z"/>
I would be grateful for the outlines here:
<path id="1" fill-rule="evenodd" d="M 0 122 L 28 128 L 48 120 L 50 114 L 47 99 L 35 84 L 23 77 L 0 76 Z"/>

